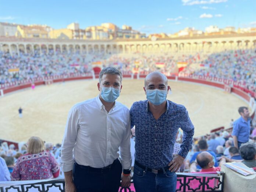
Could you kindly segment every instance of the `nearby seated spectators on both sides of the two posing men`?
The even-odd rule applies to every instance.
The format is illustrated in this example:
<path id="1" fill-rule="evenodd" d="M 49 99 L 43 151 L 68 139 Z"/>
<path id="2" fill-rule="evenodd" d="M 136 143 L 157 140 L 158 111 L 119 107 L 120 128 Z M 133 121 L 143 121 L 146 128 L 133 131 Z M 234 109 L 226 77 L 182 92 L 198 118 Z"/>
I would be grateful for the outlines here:
<path id="1" fill-rule="evenodd" d="M 231 132 L 220 131 L 193 139 L 189 151 L 179 172 L 220 171 L 222 164 L 242 162 L 249 168 L 256 168 L 256 135 L 251 130 L 250 141 L 242 144 L 240 149 L 234 147 Z M 134 129 L 132 129 L 134 131 Z M 182 132 L 177 133 L 174 154 L 178 153 L 182 143 Z M 134 141 L 132 132 L 131 151 L 134 158 Z M 31 137 L 27 143 L 16 149 L 13 144 L 1 143 L 0 147 L 0 181 L 34 180 L 63 178 L 58 165 L 61 145 L 43 142 L 39 137 Z M 28 162 L 29 161 L 29 162 Z"/>

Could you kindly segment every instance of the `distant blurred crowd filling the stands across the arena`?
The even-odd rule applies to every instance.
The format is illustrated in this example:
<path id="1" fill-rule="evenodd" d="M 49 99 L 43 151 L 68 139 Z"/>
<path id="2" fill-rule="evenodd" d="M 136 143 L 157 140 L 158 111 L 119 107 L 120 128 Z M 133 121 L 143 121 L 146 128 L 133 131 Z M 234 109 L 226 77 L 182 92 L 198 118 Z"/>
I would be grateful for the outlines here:
<path id="1" fill-rule="evenodd" d="M 82 54 L 60 53 L 53 54 L 21 53 L 13 54 L 0 52 L 0 84 L 19 80 L 33 80 L 39 77 L 70 74 L 84 74 L 92 71 L 92 63 L 100 61 L 103 67 L 115 66 L 124 72 L 149 73 L 160 71 L 166 75 L 178 74 L 177 62 L 188 65 L 182 72 L 208 77 L 224 78 L 240 82 L 251 91 L 256 91 L 256 53 L 250 50 L 223 51 L 220 53 L 203 54 Z M 164 63 L 159 67 L 156 63 Z M 9 71 L 19 69 L 19 71 Z"/>

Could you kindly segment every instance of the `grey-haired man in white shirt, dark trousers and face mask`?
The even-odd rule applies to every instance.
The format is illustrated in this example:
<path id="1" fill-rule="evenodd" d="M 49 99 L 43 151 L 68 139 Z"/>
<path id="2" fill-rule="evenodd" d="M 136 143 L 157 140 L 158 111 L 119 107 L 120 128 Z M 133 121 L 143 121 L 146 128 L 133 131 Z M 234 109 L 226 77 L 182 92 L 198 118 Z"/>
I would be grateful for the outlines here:
<path id="1" fill-rule="evenodd" d="M 66 192 L 117 192 L 120 179 L 122 187 L 130 185 L 130 114 L 115 101 L 121 82 L 121 71 L 104 68 L 97 84 L 100 94 L 70 110 L 61 145 Z"/>

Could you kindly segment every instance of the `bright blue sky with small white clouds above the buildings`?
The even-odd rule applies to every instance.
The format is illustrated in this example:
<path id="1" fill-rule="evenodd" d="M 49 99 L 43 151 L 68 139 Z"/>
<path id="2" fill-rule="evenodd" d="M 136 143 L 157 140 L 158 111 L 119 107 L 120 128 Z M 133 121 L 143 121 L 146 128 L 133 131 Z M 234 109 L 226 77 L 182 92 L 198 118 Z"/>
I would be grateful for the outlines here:
<path id="1" fill-rule="evenodd" d="M 78 22 L 80 28 L 111 22 L 149 33 L 185 27 L 205 31 L 256 27 L 256 0 L 0 0 L 0 22 L 47 24 L 54 29 Z"/>

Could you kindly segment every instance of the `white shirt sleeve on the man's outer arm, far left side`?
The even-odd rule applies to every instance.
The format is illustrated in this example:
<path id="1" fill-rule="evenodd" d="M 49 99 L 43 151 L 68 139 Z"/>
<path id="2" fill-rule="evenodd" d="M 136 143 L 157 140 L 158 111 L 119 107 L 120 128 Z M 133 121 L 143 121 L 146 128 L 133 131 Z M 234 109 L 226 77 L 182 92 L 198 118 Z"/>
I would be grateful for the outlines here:
<path id="1" fill-rule="evenodd" d="M 71 171 L 74 166 L 73 149 L 77 141 L 79 128 L 79 111 L 76 106 L 68 113 L 65 133 L 61 144 L 60 167 L 64 172 Z"/>

